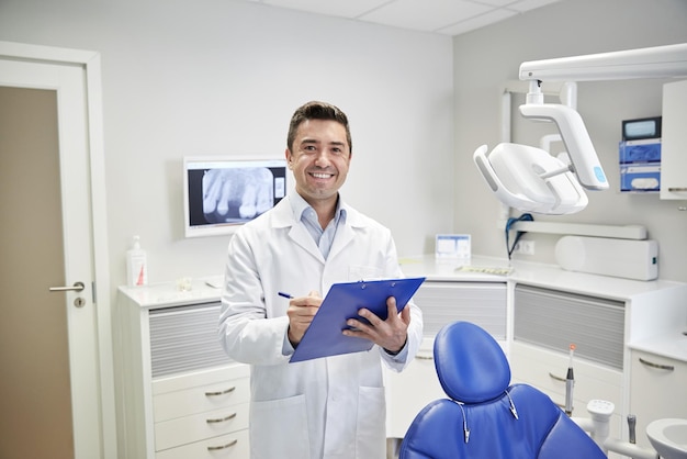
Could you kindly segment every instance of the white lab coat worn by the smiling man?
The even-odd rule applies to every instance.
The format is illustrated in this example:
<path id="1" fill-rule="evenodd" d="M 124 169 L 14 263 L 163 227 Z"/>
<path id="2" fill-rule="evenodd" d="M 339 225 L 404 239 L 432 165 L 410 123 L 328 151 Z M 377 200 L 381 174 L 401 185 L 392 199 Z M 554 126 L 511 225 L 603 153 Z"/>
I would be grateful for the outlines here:
<path id="1" fill-rule="evenodd" d="M 335 282 L 402 277 L 391 232 L 341 204 L 327 260 L 290 198 L 244 225 L 229 242 L 219 336 L 233 359 L 251 366 L 250 448 L 254 459 L 383 459 L 385 399 L 382 360 L 401 371 L 419 347 L 423 316 L 413 302 L 405 349 L 289 363 L 289 300 Z"/>

